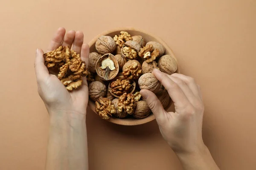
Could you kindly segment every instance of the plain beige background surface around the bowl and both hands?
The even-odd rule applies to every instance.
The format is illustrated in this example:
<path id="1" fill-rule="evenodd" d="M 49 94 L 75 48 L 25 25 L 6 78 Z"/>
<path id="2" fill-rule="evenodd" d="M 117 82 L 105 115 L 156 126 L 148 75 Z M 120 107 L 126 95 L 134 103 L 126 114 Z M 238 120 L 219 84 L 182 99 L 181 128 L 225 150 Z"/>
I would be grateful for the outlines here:
<path id="1" fill-rule="evenodd" d="M 55 30 L 134 27 L 162 38 L 201 85 L 203 138 L 222 170 L 255 169 L 255 0 L 6 0 L 0 5 L 0 170 L 43 170 L 49 118 L 37 94 L 35 48 Z M 181 170 L 155 121 L 113 125 L 87 112 L 90 170 Z"/>

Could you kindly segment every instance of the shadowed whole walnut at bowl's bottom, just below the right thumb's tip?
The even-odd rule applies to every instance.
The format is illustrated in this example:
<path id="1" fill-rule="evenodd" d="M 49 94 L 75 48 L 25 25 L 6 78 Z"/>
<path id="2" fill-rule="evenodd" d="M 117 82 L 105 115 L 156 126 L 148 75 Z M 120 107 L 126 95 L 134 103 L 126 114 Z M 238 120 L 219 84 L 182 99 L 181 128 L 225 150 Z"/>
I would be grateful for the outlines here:
<path id="1" fill-rule="evenodd" d="M 148 117 L 150 113 L 151 113 L 151 110 L 148 107 L 147 102 L 142 100 L 142 101 L 136 102 L 136 108 L 132 116 L 134 116 L 134 118 L 137 118 L 137 119 L 143 119 L 145 117 Z"/>

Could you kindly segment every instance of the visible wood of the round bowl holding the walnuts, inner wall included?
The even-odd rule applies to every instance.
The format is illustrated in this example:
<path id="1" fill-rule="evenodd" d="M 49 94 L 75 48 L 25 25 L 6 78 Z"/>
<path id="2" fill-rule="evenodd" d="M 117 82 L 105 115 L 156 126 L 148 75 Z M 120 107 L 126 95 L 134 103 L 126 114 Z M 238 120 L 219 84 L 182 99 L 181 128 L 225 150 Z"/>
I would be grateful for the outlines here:
<path id="1" fill-rule="evenodd" d="M 102 32 L 101 34 L 97 35 L 96 37 L 93 38 L 93 40 L 91 40 L 89 42 L 89 46 L 90 46 L 90 52 L 97 52 L 96 48 L 95 48 L 95 43 L 97 41 L 97 39 L 102 36 L 102 35 L 108 35 L 111 37 L 114 37 L 115 35 L 119 35 L 120 31 L 127 31 L 129 34 L 131 34 L 131 36 L 134 35 L 141 35 L 143 37 L 143 39 L 146 42 L 149 41 L 156 41 L 159 42 L 160 44 L 162 44 L 165 48 L 165 54 L 169 54 L 172 55 L 173 57 L 175 57 L 174 53 L 172 52 L 172 49 L 168 47 L 168 45 L 161 40 L 160 38 L 154 36 L 153 34 L 147 33 L 145 31 L 139 30 L 139 29 L 135 29 L 135 28 L 116 28 L 116 29 L 112 29 L 109 31 L 105 31 Z M 180 69 L 179 66 L 177 66 L 177 73 L 180 73 Z M 172 100 L 170 100 L 169 105 L 165 108 L 166 110 L 170 108 L 170 106 L 172 105 Z M 88 102 L 89 107 L 96 113 L 95 111 L 95 102 L 93 102 L 91 99 L 89 99 Z M 101 119 L 99 117 L 99 119 Z M 108 119 L 108 122 L 112 122 L 118 125 L 141 125 L 147 122 L 150 122 L 152 120 L 155 119 L 155 116 L 153 113 L 151 113 L 148 117 L 144 118 L 144 119 L 135 119 L 135 118 L 124 118 L 124 119 L 119 119 L 116 117 L 111 117 L 110 119 Z"/>

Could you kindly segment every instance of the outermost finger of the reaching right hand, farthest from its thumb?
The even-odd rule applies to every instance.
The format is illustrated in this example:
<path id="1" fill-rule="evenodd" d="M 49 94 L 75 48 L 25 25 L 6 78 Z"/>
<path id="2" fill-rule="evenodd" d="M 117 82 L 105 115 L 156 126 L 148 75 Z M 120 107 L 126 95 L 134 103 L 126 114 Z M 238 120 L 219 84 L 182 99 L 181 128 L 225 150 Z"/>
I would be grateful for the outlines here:
<path id="1" fill-rule="evenodd" d="M 198 85 L 195 83 L 195 79 L 193 79 L 192 77 L 188 77 L 185 76 L 183 74 L 172 74 L 170 77 L 176 77 L 178 79 L 181 79 L 183 82 L 185 82 L 188 87 L 191 89 L 191 91 L 193 92 L 193 94 L 195 94 L 195 96 L 200 97 L 199 91 L 198 91 Z"/>

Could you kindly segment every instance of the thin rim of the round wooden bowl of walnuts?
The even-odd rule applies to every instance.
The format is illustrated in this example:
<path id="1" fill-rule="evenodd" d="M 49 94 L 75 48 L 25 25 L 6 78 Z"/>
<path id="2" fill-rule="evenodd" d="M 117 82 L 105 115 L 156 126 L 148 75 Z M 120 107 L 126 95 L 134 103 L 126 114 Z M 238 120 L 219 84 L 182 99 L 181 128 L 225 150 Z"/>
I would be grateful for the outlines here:
<path id="1" fill-rule="evenodd" d="M 88 43 L 89 48 L 92 47 L 92 45 L 97 41 L 97 39 L 100 36 L 108 35 L 113 32 L 116 32 L 116 31 L 138 31 L 138 32 L 143 32 L 143 34 L 147 34 L 150 37 L 154 37 L 160 44 L 162 44 L 164 46 L 164 48 L 168 48 L 168 51 L 170 51 L 170 54 L 172 55 L 172 57 L 174 57 L 177 61 L 177 58 L 175 57 L 175 54 L 173 53 L 172 49 L 161 38 L 155 36 L 154 34 L 152 34 L 150 32 L 144 31 L 142 29 L 132 28 L 132 27 L 118 27 L 118 28 L 113 28 L 113 29 L 107 30 L 107 31 L 103 31 L 102 33 L 96 35 L 92 40 L 90 40 L 90 42 Z M 178 62 L 177 62 L 177 71 L 176 72 L 180 73 L 180 68 L 179 68 Z M 173 104 L 172 99 L 170 99 L 170 102 L 169 102 L 168 106 L 165 108 L 165 110 L 168 110 L 172 104 Z M 96 114 L 95 104 L 90 98 L 88 101 L 88 106 Z M 110 119 L 107 119 L 106 121 L 112 122 L 117 125 L 133 126 L 133 125 L 142 125 L 142 124 L 151 122 L 154 119 L 155 119 L 155 116 L 153 113 L 151 113 L 148 117 L 146 117 L 144 119 L 133 119 L 133 121 L 130 121 L 131 119 L 119 119 L 119 118 L 115 118 L 115 117 L 111 117 Z"/>

